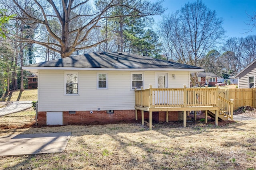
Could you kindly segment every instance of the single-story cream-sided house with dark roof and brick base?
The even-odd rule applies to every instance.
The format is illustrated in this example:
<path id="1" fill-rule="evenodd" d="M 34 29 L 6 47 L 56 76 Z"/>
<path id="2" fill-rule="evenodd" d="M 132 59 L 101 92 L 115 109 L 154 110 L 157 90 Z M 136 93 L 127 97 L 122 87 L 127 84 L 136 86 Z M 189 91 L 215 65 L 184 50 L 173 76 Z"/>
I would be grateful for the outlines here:
<path id="1" fill-rule="evenodd" d="M 38 75 L 39 125 L 134 121 L 135 88 L 183 88 L 191 72 L 204 70 L 126 52 L 89 53 L 23 69 Z M 177 121 L 178 112 L 173 117 Z"/>

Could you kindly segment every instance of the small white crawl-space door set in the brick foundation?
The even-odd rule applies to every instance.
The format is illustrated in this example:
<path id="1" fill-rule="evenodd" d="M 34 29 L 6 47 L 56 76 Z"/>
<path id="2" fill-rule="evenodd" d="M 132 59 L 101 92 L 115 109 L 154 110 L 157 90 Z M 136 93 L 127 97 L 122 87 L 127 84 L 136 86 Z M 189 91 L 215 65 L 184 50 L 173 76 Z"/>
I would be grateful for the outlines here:
<path id="1" fill-rule="evenodd" d="M 63 125 L 62 111 L 51 111 L 46 113 L 46 125 Z"/>

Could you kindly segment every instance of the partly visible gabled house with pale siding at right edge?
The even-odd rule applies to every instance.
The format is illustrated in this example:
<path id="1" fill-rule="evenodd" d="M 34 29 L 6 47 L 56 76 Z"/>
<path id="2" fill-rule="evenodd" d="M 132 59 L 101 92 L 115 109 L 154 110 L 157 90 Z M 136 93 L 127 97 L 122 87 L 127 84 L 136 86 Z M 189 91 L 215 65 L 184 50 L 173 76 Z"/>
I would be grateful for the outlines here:
<path id="1" fill-rule="evenodd" d="M 255 88 L 256 60 L 238 72 L 234 78 L 238 79 L 238 88 Z"/>

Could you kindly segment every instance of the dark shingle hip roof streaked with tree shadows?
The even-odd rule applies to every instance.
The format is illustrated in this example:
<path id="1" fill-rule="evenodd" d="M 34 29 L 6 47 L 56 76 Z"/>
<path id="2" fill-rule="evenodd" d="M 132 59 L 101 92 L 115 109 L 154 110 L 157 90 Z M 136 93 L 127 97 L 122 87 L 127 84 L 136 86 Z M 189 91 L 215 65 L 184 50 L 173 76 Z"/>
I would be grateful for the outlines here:
<path id="1" fill-rule="evenodd" d="M 26 67 L 76 67 L 76 68 L 190 68 L 201 69 L 200 67 L 170 61 L 154 59 L 141 55 L 122 52 L 99 52 L 67 57 L 37 64 L 30 64 Z"/>

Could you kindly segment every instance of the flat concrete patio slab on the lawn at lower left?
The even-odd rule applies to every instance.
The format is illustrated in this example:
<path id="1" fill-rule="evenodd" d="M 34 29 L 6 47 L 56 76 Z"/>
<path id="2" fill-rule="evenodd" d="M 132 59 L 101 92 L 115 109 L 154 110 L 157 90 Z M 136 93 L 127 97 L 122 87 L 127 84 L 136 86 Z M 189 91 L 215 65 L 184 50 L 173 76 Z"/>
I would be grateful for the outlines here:
<path id="1" fill-rule="evenodd" d="M 71 132 L 20 134 L 0 137 L 0 156 L 62 152 Z"/>

